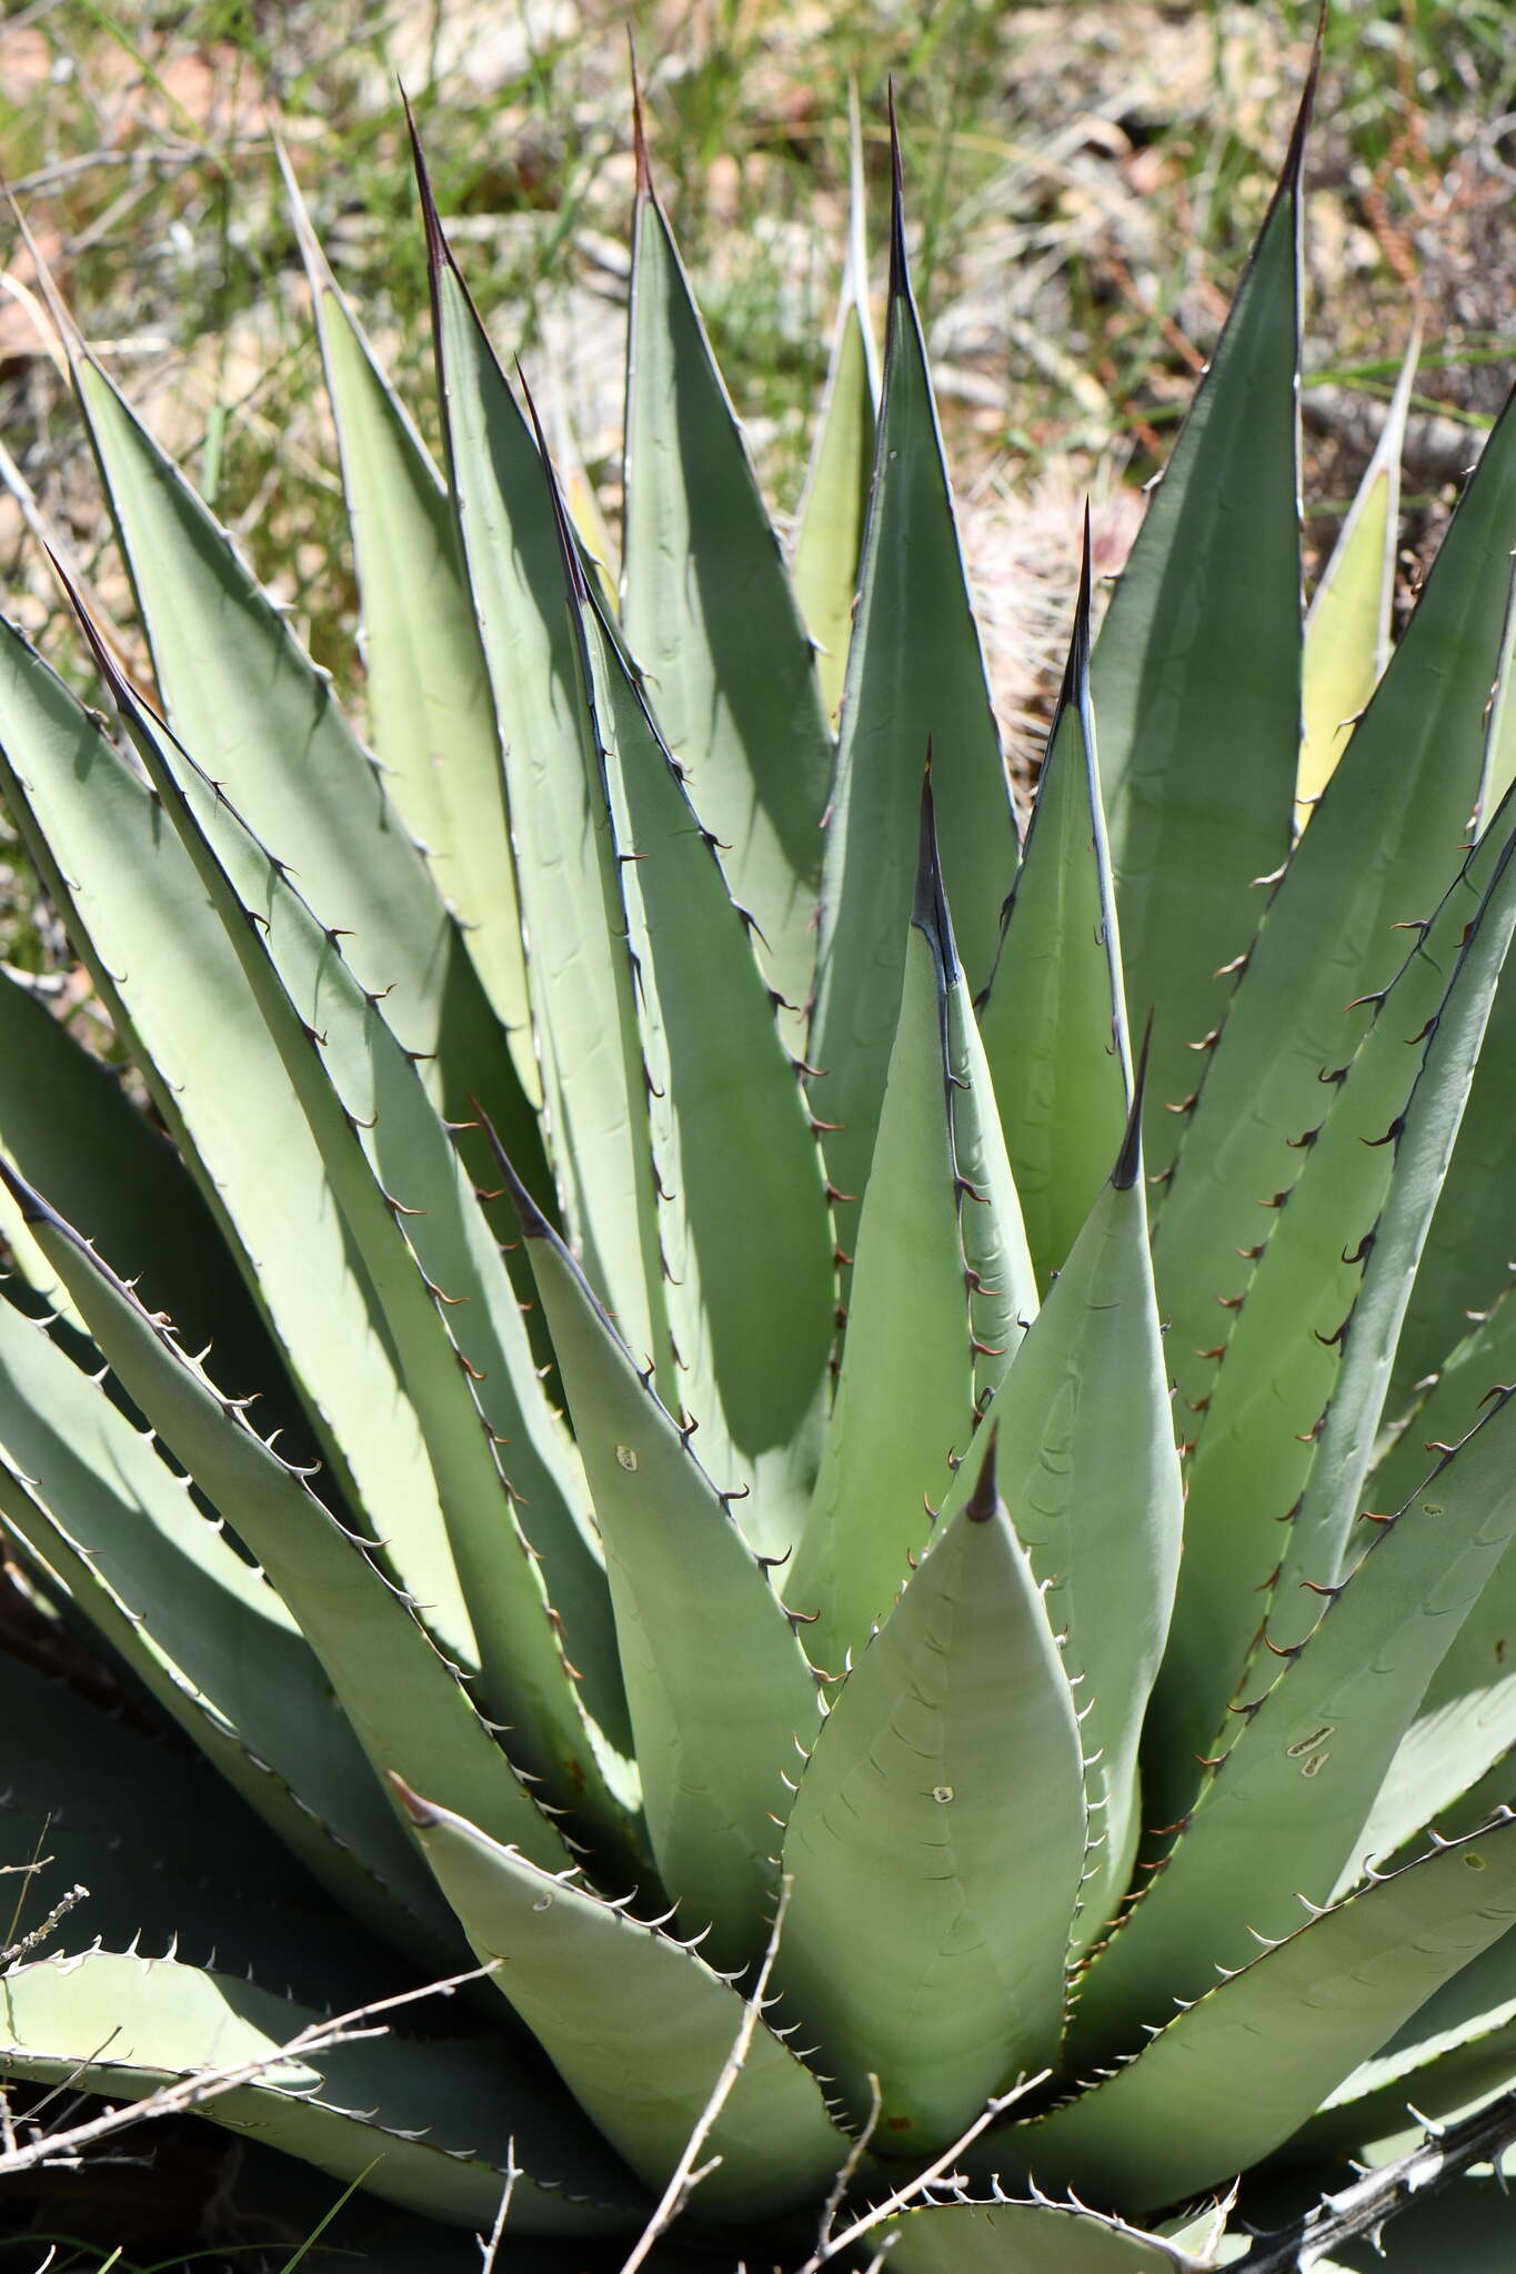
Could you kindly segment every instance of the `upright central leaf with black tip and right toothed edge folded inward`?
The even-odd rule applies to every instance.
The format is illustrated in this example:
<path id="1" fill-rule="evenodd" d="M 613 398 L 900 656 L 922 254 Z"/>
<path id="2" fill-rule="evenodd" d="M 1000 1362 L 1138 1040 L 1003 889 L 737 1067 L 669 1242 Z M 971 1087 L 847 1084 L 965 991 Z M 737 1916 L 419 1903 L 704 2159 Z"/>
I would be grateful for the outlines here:
<path id="1" fill-rule="evenodd" d="M 1036 1310 L 1025 1233 L 973 1028 L 932 825 L 921 798 L 916 907 L 864 1203 L 836 1403 L 784 1596 L 818 1624 L 807 1644 L 841 1669 L 889 1612 L 925 1546 L 952 1455 L 968 1451 L 977 1394 L 1005 1373 Z M 959 1092 L 955 1085 L 968 1082 Z M 977 1107 L 977 1110 L 975 1110 Z M 966 1187 L 959 1130 L 989 1178 Z M 998 1146 L 998 1167 L 989 1151 Z M 973 1212 L 973 1214 L 971 1214 Z M 982 1221 L 980 1221 L 982 1219 Z M 971 1242 L 993 1276 L 975 1285 Z M 982 1333 L 984 1326 L 996 1333 Z M 977 1348 L 984 1344 L 984 1348 Z M 993 1371 L 984 1371 L 989 1362 Z"/>

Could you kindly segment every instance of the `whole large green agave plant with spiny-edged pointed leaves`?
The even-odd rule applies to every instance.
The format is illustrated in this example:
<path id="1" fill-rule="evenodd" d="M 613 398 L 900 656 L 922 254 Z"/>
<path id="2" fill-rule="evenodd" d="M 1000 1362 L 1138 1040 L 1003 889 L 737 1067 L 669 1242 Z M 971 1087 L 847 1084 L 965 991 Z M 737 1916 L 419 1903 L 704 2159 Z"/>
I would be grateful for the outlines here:
<path id="1" fill-rule="evenodd" d="M 641 130 L 618 580 L 425 168 L 445 478 L 302 223 L 373 755 L 70 341 L 157 703 L 5 632 L 136 1080 L 0 985 L 2 2074 L 723 2274 L 1221 2265 L 1516 2081 L 1516 421 L 1302 785 L 1302 134 L 1025 844 L 898 159 L 793 578 Z"/>

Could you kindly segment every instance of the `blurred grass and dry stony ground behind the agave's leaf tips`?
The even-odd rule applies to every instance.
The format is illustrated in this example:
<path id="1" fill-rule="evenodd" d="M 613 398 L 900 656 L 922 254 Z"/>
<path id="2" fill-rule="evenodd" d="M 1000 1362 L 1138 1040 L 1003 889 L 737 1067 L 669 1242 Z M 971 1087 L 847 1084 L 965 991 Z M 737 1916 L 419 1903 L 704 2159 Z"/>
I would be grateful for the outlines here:
<path id="1" fill-rule="evenodd" d="M 864 109 L 882 282 L 884 89 L 966 548 L 1014 750 L 1066 637 L 1075 523 L 1121 564 L 1261 218 L 1316 0 L 27 0 L 0 20 L 0 164 L 86 337 L 295 609 L 361 714 L 336 453 L 273 159 L 436 437 L 400 84 L 500 350 L 614 528 L 632 205 L 627 30 L 659 184 L 780 516 L 825 373 Z M 1307 571 L 1418 314 L 1407 578 L 1511 375 L 1509 0 L 1332 0 L 1309 159 Z M 132 655 L 93 468 L 0 218 L 0 580 L 61 669 L 45 523 Z M 139 657 L 145 669 L 145 657 Z M 0 880 L 2 887 L 5 880 Z M 5 953 L 57 964 L 11 875 Z M 2 914 L 0 914 L 0 921 Z"/>

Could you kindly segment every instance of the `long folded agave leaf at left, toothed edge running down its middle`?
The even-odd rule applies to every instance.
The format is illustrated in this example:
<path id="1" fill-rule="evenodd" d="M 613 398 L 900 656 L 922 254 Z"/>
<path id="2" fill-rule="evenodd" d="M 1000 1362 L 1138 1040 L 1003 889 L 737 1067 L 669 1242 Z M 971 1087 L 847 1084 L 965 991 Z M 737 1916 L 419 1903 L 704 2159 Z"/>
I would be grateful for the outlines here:
<path id="1" fill-rule="evenodd" d="M 111 694 L 236 948 L 370 1273 L 436 1474 L 484 1694 L 511 1724 L 523 1771 L 598 1810 L 616 1837 L 623 1806 L 559 1640 L 568 1630 L 584 1651 L 600 1710 L 620 1710 L 605 1571 L 580 1530 L 516 1294 L 448 1130 L 284 866 L 120 678 Z M 532 1510 L 530 1533 L 516 1499 Z M 534 1553 L 502 1555 L 511 1535 Z M 545 1592 L 548 1574 L 561 1601 Z"/>

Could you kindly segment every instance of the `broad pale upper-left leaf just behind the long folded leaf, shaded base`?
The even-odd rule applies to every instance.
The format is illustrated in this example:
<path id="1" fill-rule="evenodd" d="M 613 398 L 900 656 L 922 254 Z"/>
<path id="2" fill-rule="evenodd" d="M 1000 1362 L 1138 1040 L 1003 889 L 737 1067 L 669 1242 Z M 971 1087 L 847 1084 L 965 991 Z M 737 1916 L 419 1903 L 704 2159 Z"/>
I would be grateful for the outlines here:
<path id="1" fill-rule="evenodd" d="M 470 1094 L 541 1178 L 541 1139 L 457 923 L 332 687 L 232 539 L 93 362 L 77 391 L 175 735 L 264 844 L 298 862 L 352 969 L 386 994 L 439 1103 Z"/>

